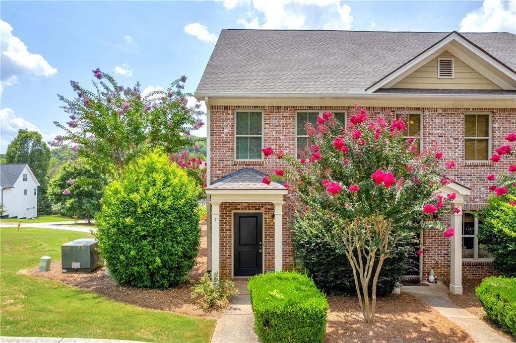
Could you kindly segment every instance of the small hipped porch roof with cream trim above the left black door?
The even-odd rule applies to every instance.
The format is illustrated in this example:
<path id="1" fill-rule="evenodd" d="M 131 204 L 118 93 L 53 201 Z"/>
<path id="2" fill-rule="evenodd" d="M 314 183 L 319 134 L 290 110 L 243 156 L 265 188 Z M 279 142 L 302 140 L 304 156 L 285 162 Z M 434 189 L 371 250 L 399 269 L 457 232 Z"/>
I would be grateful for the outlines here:
<path id="1" fill-rule="evenodd" d="M 266 174 L 253 168 L 242 168 L 235 173 L 224 176 L 212 182 L 207 190 L 284 190 L 282 182 L 271 181 L 270 184 L 262 183 Z"/>

